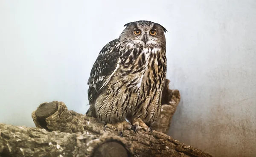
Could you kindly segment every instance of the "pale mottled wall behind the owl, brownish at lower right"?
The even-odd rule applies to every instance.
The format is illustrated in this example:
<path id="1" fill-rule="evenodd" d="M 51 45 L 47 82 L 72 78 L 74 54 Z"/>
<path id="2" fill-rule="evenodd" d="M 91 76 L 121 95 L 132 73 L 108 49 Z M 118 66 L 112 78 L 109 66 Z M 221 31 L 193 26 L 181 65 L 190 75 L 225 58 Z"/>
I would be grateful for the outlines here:
<path id="1" fill-rule="evenodd" d="M 42 102 L 88 109 L 87 79 L 125 23 L 168 32 L 182 100 L 169 134 L 216 157 L 256 154 L 255 0 L 0 1 L 0 122 L 34 126 Z"/>

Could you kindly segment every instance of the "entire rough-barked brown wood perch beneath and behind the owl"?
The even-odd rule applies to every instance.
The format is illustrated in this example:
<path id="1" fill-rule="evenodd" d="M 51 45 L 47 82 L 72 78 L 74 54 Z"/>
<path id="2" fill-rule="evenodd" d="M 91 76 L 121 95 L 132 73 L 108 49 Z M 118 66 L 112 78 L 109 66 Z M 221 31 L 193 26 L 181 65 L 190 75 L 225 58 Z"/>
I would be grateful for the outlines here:
<path id="1" fill-rule="evenodd" d="M 211 157 L 164 134 L 179 102 L 179 91 L 166 85 L 153 132 L 125 130 L 123 138 L 113 129 L 104 132 L 96 118 L 67 110 L 63 102 L 46 102 L 32 113 L 37 128 L 0 124 L 0 156 Z"/>

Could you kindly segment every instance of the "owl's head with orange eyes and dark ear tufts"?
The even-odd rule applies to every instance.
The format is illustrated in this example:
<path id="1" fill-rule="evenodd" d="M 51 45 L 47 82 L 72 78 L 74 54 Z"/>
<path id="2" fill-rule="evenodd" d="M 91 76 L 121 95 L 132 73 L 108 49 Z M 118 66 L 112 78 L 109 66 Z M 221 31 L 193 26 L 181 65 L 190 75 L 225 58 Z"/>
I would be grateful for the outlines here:
<path id="1" fill-rule="evenodd" d="M 144 47 L 165 47 L 166 38 L 164 33 L 167 30 L 158 23 L 151 21 L 135 21 L 125 24 L 126 28 L 119 39 L 128 41 L 133 45 L 143 45 Z"/>

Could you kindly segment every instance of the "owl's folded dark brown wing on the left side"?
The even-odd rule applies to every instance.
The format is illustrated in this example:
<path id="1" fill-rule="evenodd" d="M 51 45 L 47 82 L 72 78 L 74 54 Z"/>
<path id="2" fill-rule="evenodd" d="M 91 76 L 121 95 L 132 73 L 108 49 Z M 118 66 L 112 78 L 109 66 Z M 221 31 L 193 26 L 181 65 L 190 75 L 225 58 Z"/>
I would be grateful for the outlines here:
<path id="1" fill-rule="evenodd" d="M 90 78 L 87 82 L 89 84 L 88 99 L 90 104 L 108 84 L 111 76 L 119 67 L 119 52 L 114 49 L 116 43 L 117 39 L 106 44 L 93 64 Z"/>

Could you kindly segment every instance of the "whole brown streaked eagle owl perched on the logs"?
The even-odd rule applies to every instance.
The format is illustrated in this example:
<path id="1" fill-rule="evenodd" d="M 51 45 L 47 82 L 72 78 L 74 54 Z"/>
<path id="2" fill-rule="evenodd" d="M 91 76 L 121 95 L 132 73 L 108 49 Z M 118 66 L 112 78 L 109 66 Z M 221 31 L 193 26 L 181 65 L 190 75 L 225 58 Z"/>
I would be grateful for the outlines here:
<path id="1" fill-rule="evenodd" d="M 145 20 L 124 26 L 119 38 L 106 44 L 93 64 L 86 113 L 105 127 L 117 128 L 120 136 L 123 129 L 151 131 L 160 115 L 166 78 L 167 30 Z"/>

